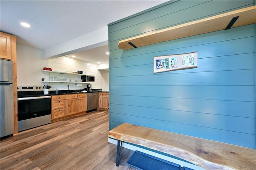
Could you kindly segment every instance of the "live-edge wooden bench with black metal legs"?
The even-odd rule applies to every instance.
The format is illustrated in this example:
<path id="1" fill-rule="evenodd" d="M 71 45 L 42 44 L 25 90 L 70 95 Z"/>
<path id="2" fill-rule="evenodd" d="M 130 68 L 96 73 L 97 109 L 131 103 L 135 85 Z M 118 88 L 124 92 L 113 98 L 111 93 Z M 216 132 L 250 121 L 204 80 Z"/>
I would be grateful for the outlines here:
<path id="1" fill-rule="evenodd" d="M 118 140 L 116 166 L 122 142 L 145 146 L 187 160 L 204 169 L 255 170 L 256 150 L 242 146 L 122 123 L 108 132 Z"/>

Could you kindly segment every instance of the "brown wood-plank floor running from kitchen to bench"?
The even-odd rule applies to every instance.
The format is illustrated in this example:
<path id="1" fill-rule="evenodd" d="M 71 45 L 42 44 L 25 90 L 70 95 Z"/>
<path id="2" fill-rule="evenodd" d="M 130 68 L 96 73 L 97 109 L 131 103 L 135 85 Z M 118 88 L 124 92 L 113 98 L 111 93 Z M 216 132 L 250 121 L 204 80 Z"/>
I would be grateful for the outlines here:
<path id="1" fill-rule="evenodd" d="M 108 111 L 94 111 L 19 132 L 0 141 L 1 170 L 136 170 L 132 150 L 108 143 Z"/>

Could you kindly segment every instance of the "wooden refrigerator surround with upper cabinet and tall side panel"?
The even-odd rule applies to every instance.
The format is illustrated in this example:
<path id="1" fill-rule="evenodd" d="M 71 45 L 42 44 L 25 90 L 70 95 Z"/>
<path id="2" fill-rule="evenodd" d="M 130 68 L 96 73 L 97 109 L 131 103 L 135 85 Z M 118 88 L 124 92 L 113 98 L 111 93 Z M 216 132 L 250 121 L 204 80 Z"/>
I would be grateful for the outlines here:
<path id="1" fill-rule="evenodd" d="M 13 63 L 13 92 L 14 92 L 14 134 L 18 133 L 18 96 L 17 96 L 17 48 L 16 36 L 0 32 L 0 58 Z"/>

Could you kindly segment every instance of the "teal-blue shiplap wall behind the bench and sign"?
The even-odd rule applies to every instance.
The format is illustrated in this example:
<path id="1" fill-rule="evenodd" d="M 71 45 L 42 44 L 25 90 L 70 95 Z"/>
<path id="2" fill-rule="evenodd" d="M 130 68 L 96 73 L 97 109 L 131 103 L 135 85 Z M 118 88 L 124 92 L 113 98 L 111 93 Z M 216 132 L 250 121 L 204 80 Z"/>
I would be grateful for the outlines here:
<path id="1" fill-rule="evenodd" d="M 123 122 L 255 148 L 255 24 L 134 49 L 120 40 L 255 5 L 175 1 L 109 24 L 110 129 Z M 198 51 L 198 68 L 153 57 Z"/>

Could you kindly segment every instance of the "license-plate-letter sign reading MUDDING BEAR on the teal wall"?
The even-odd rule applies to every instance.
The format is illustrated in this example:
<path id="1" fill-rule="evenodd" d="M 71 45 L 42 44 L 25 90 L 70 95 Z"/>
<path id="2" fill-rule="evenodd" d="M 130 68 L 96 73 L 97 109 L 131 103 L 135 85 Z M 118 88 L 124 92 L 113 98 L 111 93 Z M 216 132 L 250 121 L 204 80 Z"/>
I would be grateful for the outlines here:
<path id="1" fill-rule="evenodd" d="M 154 73 L 197 68 L 197 52 L 154 57 Z"/>

